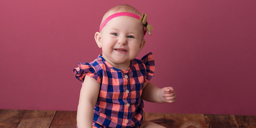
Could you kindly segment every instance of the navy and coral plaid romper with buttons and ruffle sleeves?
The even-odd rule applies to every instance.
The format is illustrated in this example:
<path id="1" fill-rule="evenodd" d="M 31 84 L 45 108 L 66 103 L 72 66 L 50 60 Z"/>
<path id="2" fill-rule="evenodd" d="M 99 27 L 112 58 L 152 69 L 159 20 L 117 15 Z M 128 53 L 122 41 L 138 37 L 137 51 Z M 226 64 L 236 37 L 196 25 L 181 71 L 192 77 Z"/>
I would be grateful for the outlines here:
<path id="1" fill-rule="evenodd" d="M 73 69 L 78 80 L 83 82 L 87 75 L 101 83 L 94 106 L 93 128 L 139 128 L 144 110 L 143 84 L 155 72 L 153 54 L 131 60 L 126 71 L 111 66 L 100 55 L 90 64 L 78 65 Z"/>

